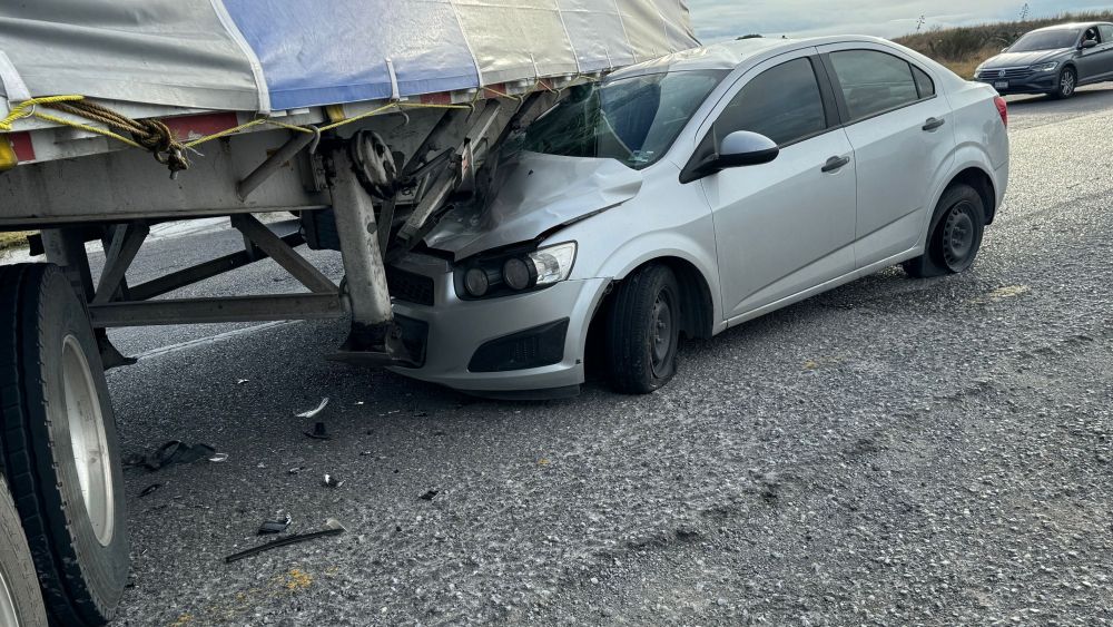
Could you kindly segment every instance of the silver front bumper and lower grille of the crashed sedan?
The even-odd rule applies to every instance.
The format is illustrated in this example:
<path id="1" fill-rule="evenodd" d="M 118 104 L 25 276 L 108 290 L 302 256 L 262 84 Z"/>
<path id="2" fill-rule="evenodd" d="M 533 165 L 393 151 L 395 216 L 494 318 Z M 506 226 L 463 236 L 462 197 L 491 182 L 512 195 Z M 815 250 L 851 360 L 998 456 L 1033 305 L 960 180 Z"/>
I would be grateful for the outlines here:
<path id="1" fill-rule="evenodd" d="M 499 398 L 571 395 L 583 383 L 583 352 L 605 278 L 482 301 L 456 296 L 452 265 L 411 254 L 387 271 L 394 314 L 416 368 L 392 371 Z"/>

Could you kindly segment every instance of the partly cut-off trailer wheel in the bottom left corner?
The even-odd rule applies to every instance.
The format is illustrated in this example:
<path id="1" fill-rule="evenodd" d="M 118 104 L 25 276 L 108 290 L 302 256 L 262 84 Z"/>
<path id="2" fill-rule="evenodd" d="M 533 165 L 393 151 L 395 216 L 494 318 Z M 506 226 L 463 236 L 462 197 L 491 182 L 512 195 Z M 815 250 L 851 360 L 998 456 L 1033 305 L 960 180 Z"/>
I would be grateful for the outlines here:
<path id="1" fill-rule="evenodd" d="M 11 605 L 0 599 L 0 625 L 7 625 L 14 616 L 20 627 L 47 627 L 47 610 L 42 607 L 31 550 L 27 548 L 8 482 L 0 478 L 0 595 L 4 591 Z"/>

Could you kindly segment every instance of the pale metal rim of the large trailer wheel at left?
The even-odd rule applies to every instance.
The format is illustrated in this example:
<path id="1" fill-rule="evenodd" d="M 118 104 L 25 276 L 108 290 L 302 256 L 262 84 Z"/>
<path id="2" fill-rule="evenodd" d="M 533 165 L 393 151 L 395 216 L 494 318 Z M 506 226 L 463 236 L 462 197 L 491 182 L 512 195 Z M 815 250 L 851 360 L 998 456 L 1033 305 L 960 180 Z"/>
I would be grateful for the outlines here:
<path id="1" fill-rule="evenodd" d="M 116 531 L 112 462 L 92 371 L 81 344 L 72 335 L 62 341 L 62 389 L 81 499 L 97 541 L 107 547 Z"/>

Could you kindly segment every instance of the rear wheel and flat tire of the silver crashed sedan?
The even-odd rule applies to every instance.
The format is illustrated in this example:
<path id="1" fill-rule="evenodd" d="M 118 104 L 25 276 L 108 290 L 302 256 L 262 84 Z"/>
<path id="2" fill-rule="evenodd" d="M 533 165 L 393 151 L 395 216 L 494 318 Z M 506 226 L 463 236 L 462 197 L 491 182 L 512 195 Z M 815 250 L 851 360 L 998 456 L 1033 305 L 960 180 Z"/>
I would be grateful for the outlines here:
<path id="1" fill-rule="evenodd" d="M 916 278 L 965 272 L 977 258 L 984 233 L 982 196 L 969 185 L 953 185 L 932 216 L 924 254 L 905 262 L 905 272 Z"/>

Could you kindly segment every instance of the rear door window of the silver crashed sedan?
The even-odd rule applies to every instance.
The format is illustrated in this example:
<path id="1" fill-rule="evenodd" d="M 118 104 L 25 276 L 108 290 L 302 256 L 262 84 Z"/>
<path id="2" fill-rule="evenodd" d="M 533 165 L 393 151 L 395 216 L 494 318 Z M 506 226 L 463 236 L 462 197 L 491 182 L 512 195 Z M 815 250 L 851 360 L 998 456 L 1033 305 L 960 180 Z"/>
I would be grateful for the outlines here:
<path id="1" fill-rule="evenodd" d="M 843 88 L 850 121 L 904 107 L 920 99 L 919 81 L 913 77 L 912 65 L 904 59 L 875 50 L 831 52 L 830 59 Z M 933 85 L 932 91 L 934 90 Z"/>

